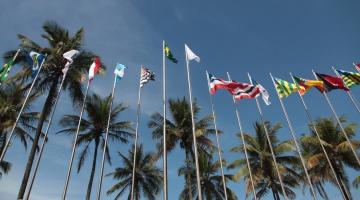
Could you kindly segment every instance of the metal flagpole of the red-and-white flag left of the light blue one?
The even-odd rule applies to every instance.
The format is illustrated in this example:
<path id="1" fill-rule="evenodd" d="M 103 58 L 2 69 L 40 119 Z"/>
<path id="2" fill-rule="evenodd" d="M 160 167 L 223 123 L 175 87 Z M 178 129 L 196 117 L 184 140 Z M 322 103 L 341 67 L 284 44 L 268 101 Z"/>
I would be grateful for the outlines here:
<path id="1" fill-rule="evenodd" d="M 86 86 L 84 101 L 83 101 L 83 105 L 82 105 L 81 112 L 80 112 L 79 123 L 78 123 L 77 129 L 76 129 L 76 134 L 75 134 L 74 143 L 73 143 L 72 152 L 71 152 L 71 158 L 70 158 L 70 161 L 69 161 L 69 167 L 68 167 L 68 170 L 67 170 L 66 181 L 65 181 L 64 191 L 63 191 L 61 200 L 66 199 L 67 188 L 68 188 L 69 181 L 70 181 L 70 176 L 71 176 L 71 169 L 72 169 L 72 165 L 73 165 L 73 162 L 74 162 L 76 142 L 77 142 L 79 132 L 80 132 L 81 119 L 82 119 L 82 116 L 83 116 L 83 113 L 84 113 L 86 97 L 87 97 L 87 94 L 88 94 L 88 91 L 89 91 L 90 81 L 91 80 L 89 79 L 88 83 L 87 83 L 87 86 Z"/>

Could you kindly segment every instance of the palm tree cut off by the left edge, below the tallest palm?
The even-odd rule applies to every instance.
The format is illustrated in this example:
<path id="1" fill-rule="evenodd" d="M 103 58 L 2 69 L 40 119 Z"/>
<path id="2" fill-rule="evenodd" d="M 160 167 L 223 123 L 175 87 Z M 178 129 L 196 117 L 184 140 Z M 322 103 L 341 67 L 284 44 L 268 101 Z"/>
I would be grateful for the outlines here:
<path id="1" fill-rule="evenodd" d="M 11 82 L 1 85 L 0 88 L 0 154 L 5 148 L 8 134 L 16 121 L 19 110 L 23 104 L 23 99 L 27 94 L 28 86 L 24 86 L 21 82 L 12 80 Z M 29 110 L 29 104 L 36 99 L 36 94 L 31 94 L 28 103 L 26 104 L 24 111 L 19 119 L 19 124 L 15 128 L 14 136 L 19 138 L 21 143 L 27 149 L 29 141 L 33 141 L 31 135 L 34 132 L 35 127 L 33 124 L 38 118 L 39 113 L 26 112 Z M 0 163 L 0 177 L 3 173 L 8 173 L 11 168 L 11 164 L 7 161 Z"/>

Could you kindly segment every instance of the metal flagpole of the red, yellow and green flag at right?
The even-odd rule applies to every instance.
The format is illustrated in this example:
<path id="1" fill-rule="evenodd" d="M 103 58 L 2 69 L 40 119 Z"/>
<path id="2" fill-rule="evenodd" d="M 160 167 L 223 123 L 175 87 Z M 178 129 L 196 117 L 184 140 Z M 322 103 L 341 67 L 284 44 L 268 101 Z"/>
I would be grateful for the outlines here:
<path id="1" fill-rule="evenodd" d="M 296 82 L 295 82 L 295 80 L 294 80 L 294 77 L 293 77 L 293 75 L 291 74 L 291 72 L 290 72 L 290 77 L 291 77 L 291 79 L 293 80 L 293 83 L 296 84 Z M 336 175 L 336 173 L 335 173 L 335 170 L 334 170 L 333 165 L 331 164 L 329 155 L 327 154 L 327 152 L 326 152 L 326 150 L 325 150 L 325 147 L 324 147 L 324 145 L 323 145 L 323 143 L 322 143 L 322 140 L 321 140 L 321 137 L 320 137 L 320 135 L 319 135 L 319 132 L 318 132 L 317 129 L 316 129 L 316 125 L 314 124 L 313 119 L 312 119 L 312 117 L 311 117 L 311 115 L 310 115 L 310 111 L 309 111 L 309 109 L 308 109 L 308 107 L 307 107 L 307 105 L 306 105 L 306 103 L 305 103 L 305 100 L 304 100 L 304 98 L 301 96 L 300 91 L 298 91 L 298 94 L 299 94 L 299 97 L 300 97 L 300 99 L 301 99 L 301 102 L 302 102 L 302 104 L 303 104 L 303 106 L 304 106 L 304 110 L 305 110 L 305 112 L 306 112 L 306 115 L 307 115 L 309 124 L 311 124 L 311 126 L 313 127 L 313 130 L 314 130 L 314 132 L 315 132 L 315 135 L 316 135 L 317 139 L 319 140 L 319 144 L 320 144 L 320 146 L 321 146 L 321 149 L 322 149 L 322 151 L 324 152 L 324 155 L 325 155 L 325 157 L 326 157 L 327 162 L 329 163 L 329 166 L 330 166 L 331 172 L 333 173 L 333 176 L 334 176 L 334 178 L 335 178 L 336 184 L 338 185 L 339 190 L 340 190 L 343 198 L 346 199 L 345 194 L 343 193 L 343 191 L 342 191 L 342 189 L 341 189 L 341 185 L 340 185 L 339 179 L 338 179 L 338 177 L 337 177 L 337 175 Z"/>

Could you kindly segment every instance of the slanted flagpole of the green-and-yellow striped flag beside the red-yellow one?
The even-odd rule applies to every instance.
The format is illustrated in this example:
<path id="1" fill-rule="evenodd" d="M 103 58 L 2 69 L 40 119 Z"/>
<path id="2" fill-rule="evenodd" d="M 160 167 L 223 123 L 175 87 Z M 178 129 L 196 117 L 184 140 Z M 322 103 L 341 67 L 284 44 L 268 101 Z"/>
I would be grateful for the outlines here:
<path id="1" fill-rule="evenodd" d="M 271 77 L 271 80 L 273 81 L 274 87 L 275 87 L 275 89 L 276 89 L 275 80 L 274 80 L 274 77 L 271 75 L 271 73 L 270 73 L 270 77 Z M 277 93 L 277 95 L 278 95 L 278 99 L 279 99 L 279 101 L 280 101 L 281 108 L 282 108 L 282 110 L 283 110 L 283 112 L 284 112 L 286 121 L 287 121 L 287 123 L 288 123 L 288 125 L 289 125 L 289 129 L 290 129 L 291 136 L 292 136 L 292 138 L 293 138 L 293 141 L 295 142 L 295 147 L 296 147 L 296 150 L 297 150 L 297 152 L 298 152 L 298 154 L 299 154 L 299 157 L 300 157 L 300 160 L 301 160 L 301 164 L 302 164 L 302 166 L 303 166 L 303 168 L 304 168 L 304 172 L 305 172 L 306 178 L 307 178 L 307 180 L 308 180 L 308 182 L 309 182 L 311 194 L 312 194 L 312 196 L 313 196 L 313 199 L 316 200 L 316 199 L 317 199 L 317 198 L 316 198 L 316 193 L 315 193 L 314 187 L 313 187 L 313 185 L 312 185 L 312 183 L 311 183 L 311 179 L 310 179 L 309 173 L 308 173 L 308 171 L 307 171 L 304 158 L 303 158 L 302 155 L 301 155 L 301 150 L 300 150 L 299 144 L 298 144 L 297 139 L 296 139 L 296 136 L 295 136 L 295 131 L 294 131 L 294 129 L 293 129 L 293 127 L 292 127 L 292 124 L 291 124 L 291 122 L 290 122 L 290 118 L 289 118 L 288 113 L 287 113 L 287 111 L 286 111 L 286 109 L 285 109 L 284 103 L 282 102 L 279 93 L 278 93 L 278 92 L 276 92 L 276 93 Z"/>

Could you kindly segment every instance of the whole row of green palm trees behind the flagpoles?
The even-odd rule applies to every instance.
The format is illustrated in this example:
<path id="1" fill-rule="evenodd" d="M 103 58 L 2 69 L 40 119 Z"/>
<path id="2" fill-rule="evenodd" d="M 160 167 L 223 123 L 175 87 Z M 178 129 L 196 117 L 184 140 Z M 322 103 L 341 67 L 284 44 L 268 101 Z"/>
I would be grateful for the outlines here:
<path id="1" fill-rule="evenodd" d="M 43 66 L 43 70 L 39 75 L 39 80 L 35 85 L 34 92 L 27 103 L 25 112 L 22 114 L 19 125 L 15 130 L 16 138 L 20 139 L 25 148 L 28 143 L 32 144 L 30 154 L 22 178 L 21 186 L 18 193 L 18 199 L 22 199 L 28 185 L 28 179 L 33 166 L 34 158 L 38 149 L 38 143 L 43 136 L 42 127 L 47 123 L 46 119 L 50 111 L 54 107 L 56 91 L 58 90 L 62 79 L 62 67 L 65 64 L 62 54 L 70 49 L 80 50 L 80 55 L 75 59 L 69 73 L 65 79 L 63 90 L 66 90 L 74 102 L 74 108 L 78 109 L 79 103 L 83 99 L 82 75 L 87 73 L 87 68 L 91 63 L 94 53 L 83 49 L 84 30 L 78 30 L 73 36 L 70 36 L 68 30 L 59 26 L 55 22 L 45 22 L 43 25 L 45 34 L 42 37 L 48 42 L 48 47 L 41 47 L 31 39 L 23 35 L 18 35 L 21 43 L 20 48 L 26 51 L 35 50 L 46 53 L 48 59 Z M 9 51 L 5 54 L 5 59 L 9 59 L 14 55 L 15 51 Z M 16 119 L 22 100 L 26 95 L 31 82 L 31 68 L 26 62 L 26 54 L 21 53 L 16 63 L 24 66 L 12 79 L 1 85 L 0 88 L 0 153 L 3 151 L 4 143 L 8 137 L 9 131 Z M 104 66 L 102 66 L 105 69 Z M 38 98 L 45 95 L 45 102 L 41 112 L 32 112 L 31 105 L 38 102 Z M 88 158 L 88 154 L 92 152 L 92 164 L 89 175 L 88 187 L 86 191 L 86 199 L 91 198 L 91 192 L 94 182 L 94 174 L 97 169 L 98 154 L 104 148 L 104 137 L 107 125 L 107 117 L 109 114 L 110 96 L 100 97 L 96 94 L 90 94 L 85 106 L 86 118 L 82 119 L 80 127 L 80 136 L 77 143 L 78 152 L 78 172 Z M 172 152 L 176 148 L 180 148 L 184 152 L 184 165 L 178 169 L 178 175 L 184 177 L 184 187 L 181 191 L 179 199 L 197 199 L 196 190 L 196 174 L 194 166 L 194 152 L 192 140 L 192 122 L 190 105 L 185 98 L 170 99 L 168 102 L 171 117 L 167 118 L 167 151 Z M 214 156 L 216 147 L 211 137 L 215 134 L 212 125 L 211 115 L 204 117 L 200 115 L 200 107 L 194 103 L 195 127 L 199 151 L 199 165 L 201 173 L 201 186 L 203 197 L 210 199 L 224 199 L 222 187 L 222 179 L 219 176 L 220 162 L 226 166 L 225 160 L 217 160 Z M 131 121 L 119 121 L 119 116 L 127 107 L 122 103 L 115 104 L 111 110 L 111 122 L 109 128 L 110 143 L 106 149 L 106 161 L 111 165 L 112 156 L 109 146 L 113 144 L 126 144 L 132 141 L 134 130 Z M 60 120 L 63 130 L 57 134 L 65 134 L 73 138 L 76 132 L 78 115 L 65 115 Z M 345 118 L 341 119 L 346 123 Z M 156 163 L 161 159 L 163 152 L 163 121 L 164 117 L 160 113 L 154 113 L 148 127 L 152 130 L 152 136 L 158 142 L 155 152 L 144 152 L 142 145 L 136 148 L 137 165 L 135 179 L 135 199 L 145 197 L 147 199 L 157 199 L 162 189 L 162 169 L 157 167 Z M 341 133 L 340 127 L 331 118 L 320 118 L 314 122 L 321 136 L 321 143 L 328 152 L 331 163 L 334 166 L 337 178 L 341 180 L 340 189 L 346 198 L 351 199 L 350 182 L 346 168 L 350 167 L 359 170 L 360 167 L 354 159 L 346 139 Z M 280 169 L 282 180 L 285 184 L 285 190 L 289 198 L 295 198 L 296 188 L 307 188 L 308 185 L 304 178 L 300 161 L 296 156 L 295 148 L 292 141 L 280 141 L 277 137 L 278 131 L 281 129 L 280 124 L 272 125 L 266 122 L 269 130 L 270 140 L 275 152 L 278 167 Z M 323 155 L 322 149 L 319 147 L 319 141 L 313 132 L 312 125 L 309 124 L 310 133 L 301 137 L 302 154 L 306 159 L 311 180 L 316 186 L 317 192 L 324 199 L 328 199 L 328 195 L 324 188 L 325 183 L 336 185 L 335 178 L 332 176 L 329 164 Z M 347 124 L 346 132 L 352 140 L 354 147 L 358 150 L 360 142 L 354 139 L 356 133 L 356 124 Z M 221 133 L 221 131 L 219 130 Z M 275 164 L 269 153 L 269 145 L 266 141 L 264 126 L 262 123 L 254 123 L 254 134 L 245 134 L 245 141 L 253 180 L 255 183 L 257 197 L 260 199 L 272 193 L 274 199 L 280 199 L 282 193 L 280 182 L 275 170 Z M 114 145 L 115 146 L 115 145 Z M 15 148 L 11 146 L 11 148 Z M 49 147 L 50 148 L 50 147 Z M 132 159 L 134 148 L 130 148 L 128 155 L 118 152 L 122 165 L 114 169 L 107 176 L 116 180 L 116 183 L 108 190 L 109 195 L 115 195 L 115 199 L 119 199 L 129 193 L 132 181 Z M 250 185 L 249 170 L 246 166 L 246 160 L 243 155 L 243 146 L 239 138 L 239 145 L 231 149 L 234 156 L 238 157 L 227 165 L 229 170 L 236 169 L 235 174 L 225 174 L 227 181 L 238 182 L 241 179 L 245 181 L 246 196 L 251 198 L 252 191 Z M 240 154 L 239 154 L 240 152 Z M 3 161 L 0 163 L 0 175 L 8 173 L 11 169 L 11 163 Z M 353 186 L 358 187 L 360 177 L 353 180 Z M 237 195 L 230 188 L 227 188 L 229 199 L 237 199 Z M 239 194 L 238 194 L 239 195 Z"/>

